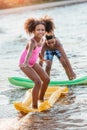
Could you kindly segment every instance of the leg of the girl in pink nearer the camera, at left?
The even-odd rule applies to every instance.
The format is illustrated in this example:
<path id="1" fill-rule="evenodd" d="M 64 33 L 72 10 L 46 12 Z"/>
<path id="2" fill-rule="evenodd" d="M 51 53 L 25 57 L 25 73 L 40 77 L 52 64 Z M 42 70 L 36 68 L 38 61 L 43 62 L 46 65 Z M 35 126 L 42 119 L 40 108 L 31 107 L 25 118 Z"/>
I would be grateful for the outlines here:
<path id="1" fill-rule="evenodd" d="M 38 96 L 39 96 L 39 90 L 41 88 L 41 79 L 37 72 L 30 67 L 20 67 L 21 70 L 30 78 L 31 80 L 34 81 L 35 86 L 32 90 L 32 107 L 33 108 L 38 108 Z"/>

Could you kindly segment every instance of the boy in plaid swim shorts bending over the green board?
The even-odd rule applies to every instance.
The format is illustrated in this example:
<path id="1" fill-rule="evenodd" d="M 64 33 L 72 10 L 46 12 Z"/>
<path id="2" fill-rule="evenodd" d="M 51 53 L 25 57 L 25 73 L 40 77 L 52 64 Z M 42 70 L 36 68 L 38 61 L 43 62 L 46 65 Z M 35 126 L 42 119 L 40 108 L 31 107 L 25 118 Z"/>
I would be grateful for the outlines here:
<path id="1" fill-rule="evenodd" d="M 44 56 L 44 53 L 45 53 L 45 57 L 47 60 L 46 61 L 46 72 L 48 75 L 50 75 L 52 61 L 53 61 L 53 57 L 55 55 L 55 56 L 57 56 L 60 63 L 64 67 L 69 80 L 76 78 L 76 74 L 73 72 L 73 69 L 66 56 L 63 46 L 61 45 L 59 40 L 54 36 L 54 34 L 52 32 L 50 32 L 49 34 L 46 35 L 46 42 L 43 45 L 40 57 Z M 41 59 L 42 59 L 42 57 L 41 57 Z M 43 61 L 40 60 L 39 63 L 42 66 Z"/>

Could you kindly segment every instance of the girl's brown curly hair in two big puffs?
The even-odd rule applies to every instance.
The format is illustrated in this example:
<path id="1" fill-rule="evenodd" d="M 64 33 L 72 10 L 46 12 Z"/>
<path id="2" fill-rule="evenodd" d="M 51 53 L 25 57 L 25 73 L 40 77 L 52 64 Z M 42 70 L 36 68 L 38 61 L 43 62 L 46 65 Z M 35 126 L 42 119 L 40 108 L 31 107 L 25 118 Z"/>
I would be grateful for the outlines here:
<path id="1" fill-rule="evenodd" d="M 24 29 L 26 30 L 27 33 L 32 34 L 36 26 L 39 24 L 45 26 L 45 30 L 47 33 L 54 31 L 55 25 L 53 23 L 53 19 L 48 16 L 45 16 L 40 19 L 35 19 L 35 18 L 27 19 L 24 23 Z"/>

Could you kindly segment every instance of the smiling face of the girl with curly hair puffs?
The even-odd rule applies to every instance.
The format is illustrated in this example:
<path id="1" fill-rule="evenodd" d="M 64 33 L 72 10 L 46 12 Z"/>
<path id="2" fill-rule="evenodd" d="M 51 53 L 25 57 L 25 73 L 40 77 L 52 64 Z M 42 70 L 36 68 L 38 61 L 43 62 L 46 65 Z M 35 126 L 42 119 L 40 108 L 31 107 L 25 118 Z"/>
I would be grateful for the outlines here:
<path id="1" fill-rule="evenodd" d="M 38 24 L 34 30 L 35 37 L 41 39 L 44 36 L 44 34 L 45 34 L 45 26 L 43 24 Z"/>

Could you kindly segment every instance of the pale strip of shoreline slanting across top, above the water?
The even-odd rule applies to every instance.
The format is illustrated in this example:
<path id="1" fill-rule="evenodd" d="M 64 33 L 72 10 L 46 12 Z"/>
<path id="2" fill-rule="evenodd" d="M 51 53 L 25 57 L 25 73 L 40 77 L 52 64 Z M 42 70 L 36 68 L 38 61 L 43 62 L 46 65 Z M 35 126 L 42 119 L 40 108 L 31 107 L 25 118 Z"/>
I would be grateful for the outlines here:
<path id="1" fill-rule="evenodd" d="M 86 3 L 86 2 L 87 0 L 71 0 L 71 1 L 67 0 L 67 1 L 59 1 L 59 2 L 48 2 L 48 3 L 43 3 L 43 4 L 3 9 L 3 10 L 0 10 L 0 15 L 12 14 L 12 13 L 17 13 L 17 12 L 22 13 L 24 11 L 29 11 L 29 10 L 41 10 L 41 9 L 53 8 L 53 7 L 70 6 L 73 4 L 81 4 L 81 3 Z"/>

